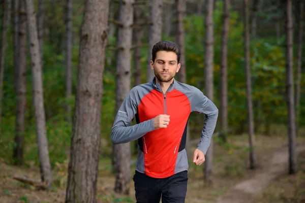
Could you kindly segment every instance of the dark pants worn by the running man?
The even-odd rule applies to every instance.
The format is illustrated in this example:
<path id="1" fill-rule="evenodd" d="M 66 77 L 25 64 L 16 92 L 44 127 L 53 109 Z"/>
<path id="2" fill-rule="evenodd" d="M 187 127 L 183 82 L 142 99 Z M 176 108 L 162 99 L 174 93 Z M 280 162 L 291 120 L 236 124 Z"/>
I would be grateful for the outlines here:
<path id="1" fill-rule="evenodd" d="M 137 203 L 184 203 L 187 194 L 188 171 L 168 178 L 151 178 L 136 171 L 133 180 Z"/>

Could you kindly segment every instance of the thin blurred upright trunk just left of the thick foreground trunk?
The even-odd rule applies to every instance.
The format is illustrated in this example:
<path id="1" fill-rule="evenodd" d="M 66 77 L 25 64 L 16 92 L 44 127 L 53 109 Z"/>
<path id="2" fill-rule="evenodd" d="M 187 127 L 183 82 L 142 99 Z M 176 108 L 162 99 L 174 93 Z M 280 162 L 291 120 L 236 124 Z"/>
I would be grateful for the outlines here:
<path id="1" fill-rule="evenodd" d="M 66 1 L 66 115 L 67 121 L 72 123 L 71 107 L 68 100 L 72 95 L 72 0 Z"/>

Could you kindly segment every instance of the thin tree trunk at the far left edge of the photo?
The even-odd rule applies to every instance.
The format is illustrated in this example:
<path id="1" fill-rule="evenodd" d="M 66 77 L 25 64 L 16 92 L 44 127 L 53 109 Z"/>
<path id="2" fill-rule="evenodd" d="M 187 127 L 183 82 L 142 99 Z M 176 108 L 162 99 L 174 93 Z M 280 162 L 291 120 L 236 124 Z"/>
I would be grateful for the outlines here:
<path id="1" fill-rule="evenodd" d="M 8 2 L 4 0 L 2 3 L 2 38 L 1 38 L 1 59 L 0 59 L 0 125 L 2 118 L 2 97 L 3 97 L 3 79 L 4 79 L 4 65 L 7 47 L 7 25 L 8 25 Z M 0 128 L 1 130 L 1 128 Z"/>

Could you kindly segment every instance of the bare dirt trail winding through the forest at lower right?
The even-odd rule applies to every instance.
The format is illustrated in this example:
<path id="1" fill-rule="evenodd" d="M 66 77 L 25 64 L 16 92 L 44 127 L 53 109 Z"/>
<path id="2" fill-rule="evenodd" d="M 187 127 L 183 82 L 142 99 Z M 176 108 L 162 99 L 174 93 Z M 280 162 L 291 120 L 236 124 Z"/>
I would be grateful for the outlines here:
<path id="1" fill-rule="evenodd" d="M 297 153 L 305 151 L 305 146 L 298 146 Z M 264 158 L 261 170 L 251 179 L 234 185 L 218 203 L 249 203 L 254 195 L 259 194 L 272 180 L 288 172 L 288 147 L 281 148 Z M 263 173 L 261 173 L 263 172 Z"/>

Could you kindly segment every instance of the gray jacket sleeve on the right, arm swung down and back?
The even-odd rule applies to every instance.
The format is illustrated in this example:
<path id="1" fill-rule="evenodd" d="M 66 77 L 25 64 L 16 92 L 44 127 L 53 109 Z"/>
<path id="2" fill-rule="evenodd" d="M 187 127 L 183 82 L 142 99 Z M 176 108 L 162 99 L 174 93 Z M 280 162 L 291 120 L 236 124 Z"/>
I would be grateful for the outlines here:
<path id="1" fill-rule="evenodd" d="M 197 149 L 201 150 L 204 154 L 210 145 L 212 133 L 215 130 L 218 108 L 212 101 L 207 98 L 199 89 L 195 88 L 193 99 L 191 101 L 192 111 L 205 114 L 204 125 L 201 132 L 201 139 L 197 145 Z"/>

